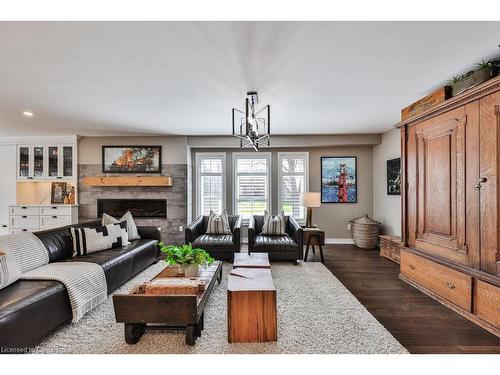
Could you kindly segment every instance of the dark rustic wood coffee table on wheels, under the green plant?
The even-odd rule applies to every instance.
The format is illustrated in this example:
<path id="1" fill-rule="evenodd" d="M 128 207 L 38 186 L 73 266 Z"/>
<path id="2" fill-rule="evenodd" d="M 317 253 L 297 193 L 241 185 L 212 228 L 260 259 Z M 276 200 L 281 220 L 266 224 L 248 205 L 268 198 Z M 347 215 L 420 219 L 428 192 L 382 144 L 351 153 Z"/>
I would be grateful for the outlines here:
<path id="1" fill-rule="evenodd" d="M 194 345 L 204 328 L 203 312 L 210 293 L 215 282 L 222 280 L 222 262 L 200 267 L 198 278 L 205 281 L 206 288 L 197 295 L 115 294 L 116 322 L 125 323 L 127 344 L 139 342 L 146 329 L 185 329 L 186 344 Z"/>

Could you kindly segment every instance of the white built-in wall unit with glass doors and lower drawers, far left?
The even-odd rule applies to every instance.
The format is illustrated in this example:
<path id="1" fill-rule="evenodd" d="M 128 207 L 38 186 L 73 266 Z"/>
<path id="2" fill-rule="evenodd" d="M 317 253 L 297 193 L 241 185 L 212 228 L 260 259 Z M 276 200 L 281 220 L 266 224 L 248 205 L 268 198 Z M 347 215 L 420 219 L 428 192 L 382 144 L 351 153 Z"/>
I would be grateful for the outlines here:
<path id="1" fill-rule="evenodd" d="M 77 144 L 77 136 L 0 137 L 0 235 L 77 222 Z M 57 181 L 74 188 L 75 205 L 51 205 Z"/>

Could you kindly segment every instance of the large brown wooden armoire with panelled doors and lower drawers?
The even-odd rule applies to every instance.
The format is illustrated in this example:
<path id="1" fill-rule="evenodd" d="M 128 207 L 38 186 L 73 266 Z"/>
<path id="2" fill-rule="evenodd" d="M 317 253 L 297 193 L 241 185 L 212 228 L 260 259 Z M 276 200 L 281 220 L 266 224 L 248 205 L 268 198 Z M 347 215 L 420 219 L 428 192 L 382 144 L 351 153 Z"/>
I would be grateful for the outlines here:
<path id="1" fill-rule="evenodd" d="M 500 79 L 399 124 L 401 277 L 500 334 Z"/>

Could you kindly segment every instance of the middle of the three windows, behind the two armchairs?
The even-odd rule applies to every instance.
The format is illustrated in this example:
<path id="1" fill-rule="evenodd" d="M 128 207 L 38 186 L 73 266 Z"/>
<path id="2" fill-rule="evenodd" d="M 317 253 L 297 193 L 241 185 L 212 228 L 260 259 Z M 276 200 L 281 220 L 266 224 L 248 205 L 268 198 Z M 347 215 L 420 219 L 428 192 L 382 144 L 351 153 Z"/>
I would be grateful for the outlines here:
<path id="1" fill-rule="evenodd" d="M 247 220 L 271 207 L 271 154 L 234 153 L 234 211 Z"/>

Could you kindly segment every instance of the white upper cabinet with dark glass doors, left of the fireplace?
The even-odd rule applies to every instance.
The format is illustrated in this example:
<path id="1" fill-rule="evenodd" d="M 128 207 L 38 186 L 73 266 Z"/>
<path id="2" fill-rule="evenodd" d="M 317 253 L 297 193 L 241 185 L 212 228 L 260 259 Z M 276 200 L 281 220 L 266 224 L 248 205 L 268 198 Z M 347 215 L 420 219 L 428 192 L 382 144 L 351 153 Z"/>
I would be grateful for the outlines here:
<path id="1" fill-rule="evenodd" d="M 72 179 L 76 176 L 75 146 L 17 146 L 17 179 Z"/>

